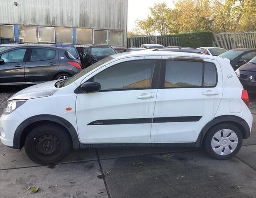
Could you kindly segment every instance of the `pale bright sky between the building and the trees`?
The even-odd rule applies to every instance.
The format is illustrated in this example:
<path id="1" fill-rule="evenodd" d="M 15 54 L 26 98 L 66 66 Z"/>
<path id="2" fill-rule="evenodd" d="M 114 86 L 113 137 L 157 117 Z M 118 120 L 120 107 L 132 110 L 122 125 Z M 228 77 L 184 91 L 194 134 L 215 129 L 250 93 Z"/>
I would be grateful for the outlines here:
<path id="1" fill-rule="evenodd" d="M 135 27 L 136 19 L 145 19 L 150 14 L 149 7 L 154 3 L 163 3 L 170 8 L 174 7 L 172 0 L 128 0 L 128 31 Z"/>

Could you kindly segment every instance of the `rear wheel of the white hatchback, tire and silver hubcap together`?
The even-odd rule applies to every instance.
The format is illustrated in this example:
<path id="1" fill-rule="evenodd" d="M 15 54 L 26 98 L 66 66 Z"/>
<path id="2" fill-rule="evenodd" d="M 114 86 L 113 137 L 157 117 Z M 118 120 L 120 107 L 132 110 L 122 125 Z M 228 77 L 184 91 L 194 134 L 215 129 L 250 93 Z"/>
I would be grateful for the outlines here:
<path id="1" fill-rule="evenodd" d="M 203 146 L 214 159 L 230 159 L 239 152 L 243 143 L 241 131 L 229 123 L 212 127 L 205 135 Z"/>

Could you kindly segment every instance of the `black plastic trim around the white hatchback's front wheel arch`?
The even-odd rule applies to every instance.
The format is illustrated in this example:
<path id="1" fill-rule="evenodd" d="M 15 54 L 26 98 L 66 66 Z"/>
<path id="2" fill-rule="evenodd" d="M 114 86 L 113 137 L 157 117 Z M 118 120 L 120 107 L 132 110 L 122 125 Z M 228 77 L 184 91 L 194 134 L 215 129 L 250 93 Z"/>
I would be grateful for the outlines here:
<path id="1" fill-rule="evenodd" d="M 28 133 L 30 132 L 30 130 L 32 130 L 34 127 L 40 124 L 46 124 L 46 123 L 55 124 L 63 128 L 64 130 L 66 130 L 71 137 L 71 143 L 73 148 L 79 149 L 79 138 L 78 138 L 77 131 L 75 130 L 73 125 L 62 117 L 58 117 L 55 115 L 47 115 L 47 114 L 33 116 L 28 118 L 27 120 L 24 120 L 24 122 L 21 123 L 19 127 L 17 127 L 14 133 L 13 148 L 22 149 L 25 143 L 25 139 Z"/>

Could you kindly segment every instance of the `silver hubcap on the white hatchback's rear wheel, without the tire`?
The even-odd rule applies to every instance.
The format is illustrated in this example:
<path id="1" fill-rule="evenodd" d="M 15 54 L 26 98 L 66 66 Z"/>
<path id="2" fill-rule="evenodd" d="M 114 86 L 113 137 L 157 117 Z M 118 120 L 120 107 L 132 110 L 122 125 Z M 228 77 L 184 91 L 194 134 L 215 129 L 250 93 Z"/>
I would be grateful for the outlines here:
<path id="1" fill-rule="evenodd" d="M 226 156 L 236 149 L 237 143 L 238 137 L 234 131 L 222 129 L 212 137 L 212 150 L 220 156 Z"/>

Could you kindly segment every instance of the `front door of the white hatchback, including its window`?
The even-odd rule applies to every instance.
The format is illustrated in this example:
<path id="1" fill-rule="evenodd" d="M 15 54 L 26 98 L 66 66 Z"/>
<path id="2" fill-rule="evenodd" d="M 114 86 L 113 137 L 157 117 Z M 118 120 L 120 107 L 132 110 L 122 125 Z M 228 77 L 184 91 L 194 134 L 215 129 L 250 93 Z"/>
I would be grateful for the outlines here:
<path id="1" fill-rule="evenodd" d="M 156 58 L 112 62 L 84 79 L 82 83 L 100 83 L 101 90 L 77 94 L 77 129 L 82 143 L 150 142 L 160 66 Z"/>

